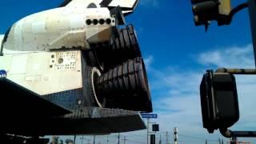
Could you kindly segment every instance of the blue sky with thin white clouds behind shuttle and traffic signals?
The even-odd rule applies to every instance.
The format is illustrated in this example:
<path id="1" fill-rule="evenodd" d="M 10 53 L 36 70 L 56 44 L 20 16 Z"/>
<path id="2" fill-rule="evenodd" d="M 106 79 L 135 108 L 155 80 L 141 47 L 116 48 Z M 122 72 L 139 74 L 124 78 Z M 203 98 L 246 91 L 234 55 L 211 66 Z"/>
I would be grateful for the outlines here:
<path id="1" fill-rule="evenodd" d="M 3 1 L 0 6 L 0 34 L 4 34 L 18 19 L 54 8 L 61 2 Z M 244 1 L 232 0 L 232 5 L 237 6 L 240 2 Z M 236 14 L 230 26 L 217 26 L 216 22 L 211 22 L 206 32 L 204 26 L 194 26 L 190 0 L 141 0 L 134 14 L 126 17 L 126 22 L 132 23 L 137 30 L 146 62 L 154 114 L 158 114 L 157 119 L 150 121 L 160 124 L 157 140 L 161 134 L 162 143 L 165 143 L 166 131 L 169 140 L 172 139 L 173 128 L 178 127 L 181 144 L 205 143 L 206 139 L 209 143 L 217 143 L 222 135 L 218 131 L 208 134 L 202 128 L 199 85 L 202 74 L 209 69 L 254 68 L 247 10 Z M 240 119 L 231 130 L 256 130 L 256 77 L 236 75 L 236 80 Z M 126 135 L 128 144 L 146 141 L 145 130 L 121 135 Z M 91 139 L 90 136 L 85 138 L 84 142 Z M 117 134 L 111 134 L 109 138 L 110 143 L 117 142 Z M 105 142 L 106 136 L 99 139 Z M 256 138 L 238 139 L 256 143 Z"/>

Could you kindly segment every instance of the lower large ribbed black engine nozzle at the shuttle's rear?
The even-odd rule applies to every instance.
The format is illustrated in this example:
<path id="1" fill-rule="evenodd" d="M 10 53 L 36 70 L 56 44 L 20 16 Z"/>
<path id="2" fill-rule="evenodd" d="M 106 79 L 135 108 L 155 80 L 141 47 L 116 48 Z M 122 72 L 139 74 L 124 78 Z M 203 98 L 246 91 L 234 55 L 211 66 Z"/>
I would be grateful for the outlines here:
<path id="1" fill-rule="evenodd" d="M 141 57 L 130 59 L 98 77 L 96 95 L 106 107 L 152 112 L 146 69 Z"/>

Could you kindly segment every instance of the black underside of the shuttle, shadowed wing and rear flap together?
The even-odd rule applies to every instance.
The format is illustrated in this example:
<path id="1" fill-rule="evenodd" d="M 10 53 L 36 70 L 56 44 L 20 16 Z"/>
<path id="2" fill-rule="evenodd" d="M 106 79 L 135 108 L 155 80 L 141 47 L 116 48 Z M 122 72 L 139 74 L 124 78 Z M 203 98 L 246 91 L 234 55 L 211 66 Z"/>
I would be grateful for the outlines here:
<path id="1" fill-rule="evenodd" d="M 109 134 L 142 130 L 146 126 L 138 112 L 94 106 L 68 109 L 30 90 L 0 78 L 2 95 L 1 134 L 23 136 Z M 58 99 L 74 97 L 62 94 Z M 8 96 L 8 97 L 7 97 Z M 61 101 L 59 101 L 62 103 Z"/>

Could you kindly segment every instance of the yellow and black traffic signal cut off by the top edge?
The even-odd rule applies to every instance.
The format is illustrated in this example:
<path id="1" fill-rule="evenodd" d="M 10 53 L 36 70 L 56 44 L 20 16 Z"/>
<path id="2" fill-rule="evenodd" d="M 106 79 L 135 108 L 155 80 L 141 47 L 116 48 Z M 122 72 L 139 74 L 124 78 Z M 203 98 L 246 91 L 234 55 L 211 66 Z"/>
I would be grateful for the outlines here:
<path id="1" fill-rule="evenodd" d="M 196 26 L 208 26 L 210 21 L 217 21 L 219 26 L 229 24 L 231 11 L 230 0 L 191 0 Z"/>

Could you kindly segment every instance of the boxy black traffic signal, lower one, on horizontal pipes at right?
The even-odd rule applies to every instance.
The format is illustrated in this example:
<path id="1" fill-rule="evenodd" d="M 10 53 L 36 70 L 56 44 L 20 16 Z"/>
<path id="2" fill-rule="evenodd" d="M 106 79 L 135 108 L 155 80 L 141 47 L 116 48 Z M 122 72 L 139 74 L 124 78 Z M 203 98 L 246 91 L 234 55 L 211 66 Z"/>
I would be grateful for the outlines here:
<path id="1" fill-rule="evenodd" d="M 238 93 L 233 74 L 207 70 L 202 77 L 200 95 L 203 127 L 209 133 L 238 122 Z"/>

